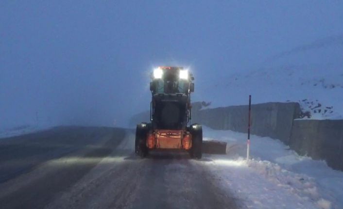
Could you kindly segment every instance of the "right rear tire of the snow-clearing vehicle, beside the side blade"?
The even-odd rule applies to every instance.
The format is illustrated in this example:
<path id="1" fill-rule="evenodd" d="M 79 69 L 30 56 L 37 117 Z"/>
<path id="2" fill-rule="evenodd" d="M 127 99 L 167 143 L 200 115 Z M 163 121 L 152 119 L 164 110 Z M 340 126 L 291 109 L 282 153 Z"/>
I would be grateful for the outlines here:
<path id="1" fill-rule="evenodd" d="M 201 159 L 203 155 L 203 128 L 201 127 L 201 125 L 193 124 L 190 126 L 190 134 L 192 135 L 192 147 L 190 148 L 189 152 L 190 157 Z"/>

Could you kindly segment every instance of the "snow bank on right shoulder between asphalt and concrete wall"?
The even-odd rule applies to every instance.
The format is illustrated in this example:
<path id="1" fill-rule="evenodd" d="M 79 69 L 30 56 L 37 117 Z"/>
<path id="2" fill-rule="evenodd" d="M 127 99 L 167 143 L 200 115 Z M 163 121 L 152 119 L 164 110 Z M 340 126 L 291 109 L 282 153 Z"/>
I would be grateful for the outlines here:
<path id="1" fill-rule="evenodd" d="M 343 172 L 325 161 L 297 155 L 279 140 L 251 136 L 251 161 L 245 161 L 247 134 L 204 127 L 204 140 L 228 143 L 227 155 L 204 155 L 195 163 L 211 168 L 224 189 L 234 191 L 249 209 L 342 209 Z"/>

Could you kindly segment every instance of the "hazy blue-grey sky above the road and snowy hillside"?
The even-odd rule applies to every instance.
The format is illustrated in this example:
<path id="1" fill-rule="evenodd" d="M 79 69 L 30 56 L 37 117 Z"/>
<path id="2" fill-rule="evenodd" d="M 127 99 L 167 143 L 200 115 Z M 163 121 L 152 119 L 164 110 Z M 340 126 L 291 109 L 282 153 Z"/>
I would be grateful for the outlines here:
<path id="1" fill-rule="evenodd" d="M 154 66 L 195 86 L 343 34 L 343 1 L 1 0 L 0 127 L 126 126 Z M 199 95 L 197 96 L 199 98 Z"/>

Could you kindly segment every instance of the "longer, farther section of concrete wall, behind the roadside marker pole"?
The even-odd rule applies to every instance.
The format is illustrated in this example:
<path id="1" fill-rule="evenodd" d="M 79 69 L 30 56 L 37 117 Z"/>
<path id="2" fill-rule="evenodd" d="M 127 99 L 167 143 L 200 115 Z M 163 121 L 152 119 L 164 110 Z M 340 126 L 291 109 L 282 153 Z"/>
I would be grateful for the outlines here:
<path id="1" fill-rule="evenodd" d="M 212 129 L 248 131 L 248 105 L 199 110 L 193 105 L 192 123 L 203 124 Z M 298 103 L 269 102 L 251 107 L 251 133 L 269 136 L 289 144 L 294 118 L 299 118 Z"/>

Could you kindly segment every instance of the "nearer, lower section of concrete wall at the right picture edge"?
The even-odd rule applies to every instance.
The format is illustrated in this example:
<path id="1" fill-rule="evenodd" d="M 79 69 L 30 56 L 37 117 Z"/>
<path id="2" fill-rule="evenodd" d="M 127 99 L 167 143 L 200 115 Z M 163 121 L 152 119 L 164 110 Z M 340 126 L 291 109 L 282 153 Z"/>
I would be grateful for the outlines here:
<path id="1" fill-rule="evenodd" d="M 294 120 L 290 147 L 343 171 L 343 120 Z"/>

